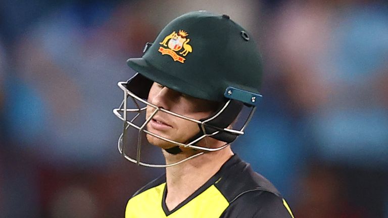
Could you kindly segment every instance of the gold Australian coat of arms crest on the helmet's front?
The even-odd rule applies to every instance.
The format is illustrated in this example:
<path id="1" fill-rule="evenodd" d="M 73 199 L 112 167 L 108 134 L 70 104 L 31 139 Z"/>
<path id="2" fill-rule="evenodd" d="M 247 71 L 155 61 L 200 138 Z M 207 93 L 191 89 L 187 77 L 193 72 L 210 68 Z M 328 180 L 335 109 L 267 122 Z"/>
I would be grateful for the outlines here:
<path id="1" fill-rule="evenodd" d="M 183 57 L 186 57 L 189 52 L 192 52 L 192 47 L 188 44 L 190 39 L 187 38 L 187 36 L 188 33 L 183 30 L 179 30 L 178 33 L 173 31 L 159 43 L 162 46 L 159 47 L 158 51 L 161 52 L 162 55 L 171 56 L 174 61 L 184 63 L 186 59 Z"/>

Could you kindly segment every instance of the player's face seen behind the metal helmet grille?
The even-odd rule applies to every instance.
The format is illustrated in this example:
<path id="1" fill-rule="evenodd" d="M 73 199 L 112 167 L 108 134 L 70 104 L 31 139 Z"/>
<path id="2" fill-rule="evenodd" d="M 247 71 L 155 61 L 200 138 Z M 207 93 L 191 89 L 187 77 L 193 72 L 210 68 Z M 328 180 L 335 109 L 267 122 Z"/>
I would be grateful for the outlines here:
<path id="1" fill-rule="evenodd" d="M 150 89 L 148 101 L 165 110 L 195 120 L 209 117 L 215 112 L 219 105 L 217 102 L 184 95 L 156 82 L 154 82 Z M 148 106 L 147 118 L 149 118 L 154 111 L 155 108 Z M 186 143 L 193 136 L 198 134 L 200 128 L 197 123 L 159 111 L 147 124 L 147 130 L 165 138 L 180 143 Z M 149 134 L 147 134 L 147 140 L 151 144 L 164 149 L 176 146 L 176 144 L 164 141 Z"/>

